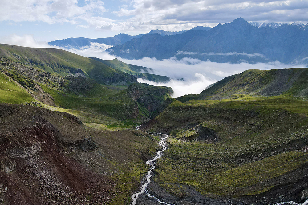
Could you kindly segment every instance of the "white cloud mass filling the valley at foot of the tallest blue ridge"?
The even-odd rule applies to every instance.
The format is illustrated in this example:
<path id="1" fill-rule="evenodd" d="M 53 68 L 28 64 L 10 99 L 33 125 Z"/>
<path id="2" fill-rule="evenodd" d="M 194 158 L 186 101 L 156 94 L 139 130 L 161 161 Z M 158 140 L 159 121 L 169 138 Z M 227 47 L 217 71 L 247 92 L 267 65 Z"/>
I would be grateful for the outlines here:
<path id="1" fill-rule="evenodd" d="M 165 75 L 171 77 L 172 80 L 166 83 L 156 83 L 138 79 L 139 82 L 148 83 L 150 85 L 162 85 L 172 87 L 174 94 L 172 97 L 180 97 L 185 94 L 199 94 L 210 84 L 217 82 L 224 77 L 241 73 L 249 69 L 269 70 L 282 68 L 302 68 L 304 64 L 283 64 L 279 61 L 271 63 L 216 63 L 211 61 L 201 61 L 198 59 L 184 58 L 182 60 L 176 57 L 164 59 L 162 61 L 143 58 L 140 60 L 126 60 L 119 58 L 125 63 L 140 65 L 154 69 L 153 74 Z M 183 78 L 182 80 L 177 80 Z"/>

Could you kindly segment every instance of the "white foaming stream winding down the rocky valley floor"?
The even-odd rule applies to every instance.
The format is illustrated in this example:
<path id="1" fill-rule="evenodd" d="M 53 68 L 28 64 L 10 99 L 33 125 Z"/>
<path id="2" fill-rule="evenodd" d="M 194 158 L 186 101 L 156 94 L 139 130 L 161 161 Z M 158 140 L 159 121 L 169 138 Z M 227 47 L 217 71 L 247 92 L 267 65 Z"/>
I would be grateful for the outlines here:
<path id="1" fill-rule="evenodd" d="M 140 126 L 137 126 L 136 129 L 139 130 L 139 127 Z M 161 203 L 161 204 L 165 204 L 165 205 L 175 205 L 173 203 L 169 204 L 169 203 L 166 203 L 166 202 L 163 202 L 161 201 L 160 199 L 156 198 L 154 195 L 152 194 L 149 194 L 148 193 L 148 190 L 147 190 L 147 186 L 149 185 L 149 183 L 151 182 L 151 173 L 152 173 L 152 170 L 155 169 L 155 160 L 157 160 L 158 158 L 161 157 L 161 152 L 165 151 L 167 149 L 167 146 L 166 146 L 166 142 L 165 142 L 165 139 L 167 139 L 169 136 L 166 135 L 166 134 L 161 134 L 159 133 L 159 135 L 164 135 L 165 137 L 164 138 L 161 138 L 160 139 L 160 142 L 159 142 L 159 145 L 162 147 L 162 150 L 156 152 L 156 156 L 152 159 L 152 160 L 148 160 L 146 163 L 148 165 L 150 165 L 152 168 L 148 171 L 148 174 L 146 175 L 146 183 L 144 183 L 141 187 L 141 190 L 139 192 L 137 192 L 136 194 L 133 194 L 132 195 L 132 205 L 135 205 L 136 202 L 137 202 L 137 198 L 140 194 L 142 194 L 143 192 L 145 192 L 146 194 L 148 194 L 148 197 L 151 197 L 151 198 L 154 198 L 156 199 L 157 202 Z"/>

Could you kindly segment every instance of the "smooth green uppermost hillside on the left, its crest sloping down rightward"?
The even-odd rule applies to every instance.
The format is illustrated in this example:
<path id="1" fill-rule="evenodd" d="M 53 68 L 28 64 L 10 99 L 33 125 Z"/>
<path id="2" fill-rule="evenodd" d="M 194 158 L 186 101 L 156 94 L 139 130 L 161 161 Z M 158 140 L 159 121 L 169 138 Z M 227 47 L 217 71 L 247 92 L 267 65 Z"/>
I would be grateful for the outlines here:
<path id="1" fill-rule="evenodd" d="M 56 75 L 84 75 L 101 84 L 136 82 L 136 78 L 99 61 L 61 49 L 27 48 L 0 44 L 0 57 L 34 66 Z"/>

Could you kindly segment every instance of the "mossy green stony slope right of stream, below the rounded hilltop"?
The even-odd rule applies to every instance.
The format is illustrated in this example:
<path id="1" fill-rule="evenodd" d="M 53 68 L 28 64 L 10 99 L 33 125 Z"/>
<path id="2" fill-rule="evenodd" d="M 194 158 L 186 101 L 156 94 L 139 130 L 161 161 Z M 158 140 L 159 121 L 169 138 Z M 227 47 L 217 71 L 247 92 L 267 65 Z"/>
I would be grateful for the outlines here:
<path id="1" fill-rule="evenodd" d="M 306 113 L 308 103 L 296 99 L 174 101 L 141 128 L 172 137 L 156 170 L 169 192 L 188 184 L 204 195 L 271 195 L 307 177 L 296 174 L 308 164 Z"/>

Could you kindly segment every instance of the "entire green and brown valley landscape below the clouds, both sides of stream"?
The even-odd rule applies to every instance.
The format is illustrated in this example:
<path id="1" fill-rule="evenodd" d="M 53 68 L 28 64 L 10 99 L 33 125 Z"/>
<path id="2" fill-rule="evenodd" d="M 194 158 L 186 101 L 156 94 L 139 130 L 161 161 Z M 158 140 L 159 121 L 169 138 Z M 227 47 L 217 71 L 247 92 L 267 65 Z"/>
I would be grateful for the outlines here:
<path id="1" fill-rule="evenodd" d="M 247 70 L 172 98 L 137 82 L 169 77 L 117 59 L 4 44 L 0 56 L 4 204 L 308 199 L 306 68 Z"/>

